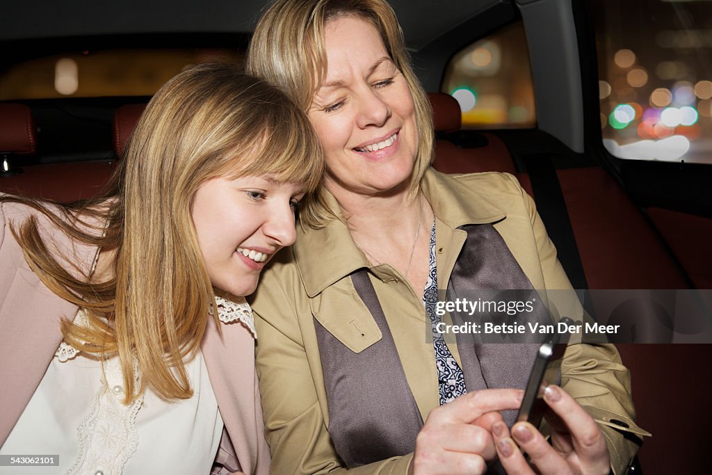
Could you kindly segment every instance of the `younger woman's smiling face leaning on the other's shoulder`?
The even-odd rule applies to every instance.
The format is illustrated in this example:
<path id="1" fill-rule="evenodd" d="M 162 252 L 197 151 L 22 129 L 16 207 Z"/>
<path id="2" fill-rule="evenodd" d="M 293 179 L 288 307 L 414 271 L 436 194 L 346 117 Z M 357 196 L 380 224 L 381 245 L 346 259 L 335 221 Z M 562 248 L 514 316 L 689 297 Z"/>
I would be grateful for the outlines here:
<path id="1" fill-rule="evenodd" d="M 214 178 L 195 193 L 191 216 L 211 283 L 234 296 L 257 287 L 265 263 L 294 243 L 303 185 L 268 177 Z"/>

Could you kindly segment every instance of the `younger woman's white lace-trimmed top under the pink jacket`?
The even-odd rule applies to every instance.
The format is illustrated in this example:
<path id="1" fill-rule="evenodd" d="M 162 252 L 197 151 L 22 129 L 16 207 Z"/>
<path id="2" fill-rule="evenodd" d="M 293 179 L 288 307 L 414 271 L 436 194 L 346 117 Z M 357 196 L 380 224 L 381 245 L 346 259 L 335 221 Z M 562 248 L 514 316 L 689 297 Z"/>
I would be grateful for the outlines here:
<path id="1" fill-rule="evenodd" d="M 221 322 L 255 335 L 246 301 L 216 303 Z M 0 454 L 59 456 L 33 474 L 208 474 L 223 421 L 202 354 L 184 364 L 193 397 L 166 402 L 148 389 L 127 406 L 118 358 L 102 367 L 63 342 Z"/>

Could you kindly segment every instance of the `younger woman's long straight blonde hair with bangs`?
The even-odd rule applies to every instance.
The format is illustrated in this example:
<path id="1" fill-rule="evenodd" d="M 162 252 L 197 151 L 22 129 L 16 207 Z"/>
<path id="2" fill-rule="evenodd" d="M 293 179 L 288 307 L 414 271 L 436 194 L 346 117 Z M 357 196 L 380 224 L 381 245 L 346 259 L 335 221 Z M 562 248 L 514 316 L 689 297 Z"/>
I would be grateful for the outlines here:
<path id="1" fill-rule="evenodd" d="M 125 402 L 147 385 L 168 400 L 192 395 L 183 359 L 199 347 L 214 303 L 192 199 L 211 178 L 266 174 L 310 192 L 318 187 L 323 157 L 308 118 L 262 80 L 206 64 L 175 76 L 152 98 L 103 197 L 58 208 L 2 199 L 38 209 L 76 241 L 116 250 L 109 281 L 86 272 L 75 278 L 60 263 L 70 257 L 48 251 L 36 218 L 13 229 L 43 283 L 86 310 L 88 325 L 63 320 L 64 339 L 120 358 Z"/>

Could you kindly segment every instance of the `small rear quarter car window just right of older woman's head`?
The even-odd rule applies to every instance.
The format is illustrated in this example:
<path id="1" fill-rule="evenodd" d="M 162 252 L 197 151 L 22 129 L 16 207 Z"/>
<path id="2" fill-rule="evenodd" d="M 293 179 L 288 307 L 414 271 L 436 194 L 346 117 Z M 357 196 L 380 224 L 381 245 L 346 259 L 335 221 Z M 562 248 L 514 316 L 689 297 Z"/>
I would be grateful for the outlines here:
<path id="1" fill-rule="evenodd" d="M 521 21 L 456 53 L 441 91 L 460 103 L 463 128 L 533 127 L 534 88 Z"/>

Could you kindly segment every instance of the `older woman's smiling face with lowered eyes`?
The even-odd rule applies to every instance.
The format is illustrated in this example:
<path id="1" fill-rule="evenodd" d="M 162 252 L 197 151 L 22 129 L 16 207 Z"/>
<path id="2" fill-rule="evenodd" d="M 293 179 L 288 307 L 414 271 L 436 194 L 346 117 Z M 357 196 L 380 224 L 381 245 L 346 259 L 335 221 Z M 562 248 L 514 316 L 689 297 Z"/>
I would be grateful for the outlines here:
<path id="1" fill-rule="evenodd" d="M 309 118 L 325 151 L 326 187 L 337 199 L 407 189 L 418 129 L 404 76 L 364 19 L 330 21 L 324 41 L 328 71 Z"/>

